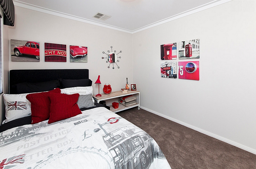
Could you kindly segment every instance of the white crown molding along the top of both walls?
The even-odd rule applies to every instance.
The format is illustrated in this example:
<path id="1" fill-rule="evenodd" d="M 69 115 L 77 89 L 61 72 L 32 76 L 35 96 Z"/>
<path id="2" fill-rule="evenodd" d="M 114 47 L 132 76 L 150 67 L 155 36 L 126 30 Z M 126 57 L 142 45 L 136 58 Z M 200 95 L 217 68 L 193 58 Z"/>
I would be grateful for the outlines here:
<path id="1" fill-rule="evenodd" d="M 137 32 L 140 32 L 140 31 L 143 31 L 143 30 L 146 30 L 146 29 L 149 29 L 149 28 L 152 28 L 152 27 L 170 22 L 170 21 L 178 19 L 178 18 L 182 18 L 182 17 L 188 16 L 188 15 L 191 15 L 191 14 L 199 12 L 199 11 L 203 11 L 203 10 L 212 8 L 212 7 L 220 5 L 220 4 L 227 3 L 229 1 L 233 1 L 233 0 L 221 0 L 221 1 L 215 0 L 215 1 L 212 1 L 210 3 L 207 3 L 207 4 L 204 4 L 204 5 L 198 6 L 196 8 L 193 8 L 191 10 L 184 11 L 184 12 L 181 12 L 179 14 L 173 15 L 171 17 L 165 18 L 163 20 L 157 21 L 155 23 L 149 24 L 147 26 L 140 27 L 140 28 L 135 29 L 135 30 L 128 30 L 128 29 L 117 27 L 117 26 L 103 24 L 103 23 L 93 21 L 93 20 L 90 20 L 90 19 L 85 19 L 85 18 L 74 16 L 74 15 L 70 15 L 70 14 L 67 14 L 67 13 L 54 11 L 54 10 L 50 10 L 50 9 L 43 8 L 43 7 L 40 7 L 40 6 L 24 3 L 24 2 L 21 2 L 19 0 L 13 0 L 13 4 L 15 6 L 19 6 L 19 7 L 22 7 L 22 8 L 27 8 L 27 9 L 30 9 L 30 10 L 39 11 L 39 12 L 47 13 L 47 14 L 50 14 L 50 15 L 59 16 L 59 17 L 62 17 L 62 18 L 68 18 L 68 19 L 72 19 L 72 20 L 76 20 L 76 21 L 80 21 L 80 22 L 84 22 L 84 23 L 88 23 L 88 24 L 92 24 L 92 25 L 102 26 L 102 27 L 106 27 L 106 28 L 109 28 L 109 29 L 114 29 L 114 30 L 117 30 L 117 31 L 122 31 L 122 32 L 125 32 L 125 33 L 133 34 L 133 33 L 137 33 Z"/>

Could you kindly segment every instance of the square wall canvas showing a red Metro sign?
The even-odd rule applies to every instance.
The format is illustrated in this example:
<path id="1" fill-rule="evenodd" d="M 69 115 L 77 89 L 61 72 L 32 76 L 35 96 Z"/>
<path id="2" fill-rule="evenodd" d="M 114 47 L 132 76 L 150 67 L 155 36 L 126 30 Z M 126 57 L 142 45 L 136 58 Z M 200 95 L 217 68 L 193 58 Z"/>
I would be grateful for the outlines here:
<path id="1" fill-rule="evenodd" d="M 177 62 L 162 62 L 161 77 L 177 78 Z"/>

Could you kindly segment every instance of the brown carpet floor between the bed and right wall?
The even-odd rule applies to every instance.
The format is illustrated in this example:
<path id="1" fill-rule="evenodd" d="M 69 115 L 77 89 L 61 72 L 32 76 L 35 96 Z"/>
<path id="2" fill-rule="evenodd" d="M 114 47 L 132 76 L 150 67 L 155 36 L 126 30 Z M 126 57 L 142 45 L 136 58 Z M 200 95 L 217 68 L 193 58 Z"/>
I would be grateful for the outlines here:
<path id="1" fill-rule="evenodd" d="M 256 169 L 256 155 L 137 107 L 117 113 L 153 137 L 172 169 Z"/>

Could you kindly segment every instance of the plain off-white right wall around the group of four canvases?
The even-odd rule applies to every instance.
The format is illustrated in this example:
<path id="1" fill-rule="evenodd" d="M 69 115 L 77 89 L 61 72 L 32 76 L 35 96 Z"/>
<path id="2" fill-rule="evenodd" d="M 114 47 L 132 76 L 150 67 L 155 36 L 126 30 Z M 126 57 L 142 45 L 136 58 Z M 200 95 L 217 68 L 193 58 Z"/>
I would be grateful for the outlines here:
<path id="1" fill-rule="evenodd" d="M 256 154 L 255 5 L 234 0 L 133 34 L 142 108 Z M 200 80 L 160 77 L 160 45 L 192 39 Z"/>

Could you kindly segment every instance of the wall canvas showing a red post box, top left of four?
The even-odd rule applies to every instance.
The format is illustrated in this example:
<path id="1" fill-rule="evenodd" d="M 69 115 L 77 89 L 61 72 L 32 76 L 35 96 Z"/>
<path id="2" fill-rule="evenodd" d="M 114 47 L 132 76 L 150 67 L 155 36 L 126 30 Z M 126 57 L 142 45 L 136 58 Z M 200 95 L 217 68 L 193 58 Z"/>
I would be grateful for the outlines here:
<path id="1" fill-rule="evenodd" d="M 177 59 L 177 43 L 160 45 L 160 48 L 161 48 L 161 60 Z"/>

